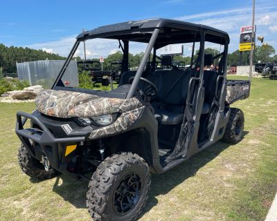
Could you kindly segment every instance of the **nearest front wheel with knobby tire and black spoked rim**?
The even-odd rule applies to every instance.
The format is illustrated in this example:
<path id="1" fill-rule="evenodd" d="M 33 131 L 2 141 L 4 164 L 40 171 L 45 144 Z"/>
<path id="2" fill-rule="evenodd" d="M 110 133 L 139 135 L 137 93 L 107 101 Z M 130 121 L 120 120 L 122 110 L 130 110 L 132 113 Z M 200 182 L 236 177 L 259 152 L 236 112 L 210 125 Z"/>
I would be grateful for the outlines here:
<path id="1" fill-rule="evenodd" d="M 107 157 L 89 182 L 87 207 L 95 220 L 137 220 L 150 191 L 148 164 L 132 153 Z"/>

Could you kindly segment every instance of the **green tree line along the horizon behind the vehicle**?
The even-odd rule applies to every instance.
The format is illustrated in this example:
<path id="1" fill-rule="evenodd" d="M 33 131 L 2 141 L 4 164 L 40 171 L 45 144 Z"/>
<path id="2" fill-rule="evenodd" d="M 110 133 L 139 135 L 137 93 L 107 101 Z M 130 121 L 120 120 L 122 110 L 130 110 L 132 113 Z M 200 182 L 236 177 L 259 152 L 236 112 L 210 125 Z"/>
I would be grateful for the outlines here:
<path id="1" fill-rule="evenodd" d="M 271 61 L 277 61 L 277 55 L 275 54 L 275 49 L 272 46 L 257 46 L 254 52 L 253 62 L 254 64 L 260 61 L 261 63 L 267 63 Z M 215 48 L 206 48 L 205 53 L 217 55 L 220 52 Z M 243 52 L 241 61 L 242 65 L 249 65 L 249 54 L 250 52 Z M 197 55 L 197 51 L 195 52 Z M 103 64 L 103 69 L 110 70 L 111 63 L 116 61 L 121 61 L 123 57 L 123 53 L 118 51 L 112 55 L 109 55 L 105 58 L 105 62 Z M 132 55 L 129 54 L 129 67 L 138 67 L 141 58 L 143 57 L 143 52 L 139 54 Z M 35 50 L 31 48 L 22 48 L 22 47 L 15 47 L 15 46 L 5 46 L 0 44 L 0 69 L 3 73 L 16 73 L 17 62 L 24 62 L 24 61 L 37 61 L 37 60 L 57 60 L 57 59 L 66 59 L 66 57 L 62 57 L 58 54 L 48 53 L 44 50 Z M 75 57 L 78 61 L 81 60 L 80 57 Z M 190 64 L 190 56 L 181 56 L 175 55 L 174 61 L 184 61 L 185 64 Z M 92 59 L 99 61 L 99 59 Z M 215 61 L 218 64 L 218 60 Z M 228 65 L 229 66 L 238 66 L 240 65 L 240 51 L 236 50 L 235 52 L 229 53 L 228 55 Z"/>

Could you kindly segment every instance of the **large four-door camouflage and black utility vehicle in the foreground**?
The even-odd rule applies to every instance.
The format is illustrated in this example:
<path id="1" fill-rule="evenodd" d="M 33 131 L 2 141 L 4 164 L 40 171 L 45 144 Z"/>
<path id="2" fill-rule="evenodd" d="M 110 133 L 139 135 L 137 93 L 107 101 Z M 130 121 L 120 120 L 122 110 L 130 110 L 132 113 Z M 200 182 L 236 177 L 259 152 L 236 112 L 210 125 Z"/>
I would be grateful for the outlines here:
<path id="1" fill-rule="evenodd" d="M 96 37 L 123 42 L 118 88 L 66 88 L 62 76 L 74 52 L 80 42 Z M 128 67 L 130 42 L 148 44 L 136 71 Z M 206 42 L 222 45 L 223 52 L 205 55 Z M 163 56 L 161 66 L 172 68 L 156 70 L 157 50 L 182 43 L 193 45 L 190 66 L 172 66 L 171 57 Z M 21 169 L 38 179 L 57 173 L 87 179 L 93 219 L 137 220 L 151 173 L 164 173 L 218 140 L 242 139 L 244 114 L 231 104 L 249 97 L 250 81 L 226 79 L 228 45 L 226 32 L 170 19 L 82 32 L 52 89 L 35 99 L 37 110 L 17 113 Z M 215 59 L 220 59 L 218 70 L 204 70 Z M 145 68 L 148 62 L 151 67 Z M 24 128 L 27 119 L 30 128 Z"/>

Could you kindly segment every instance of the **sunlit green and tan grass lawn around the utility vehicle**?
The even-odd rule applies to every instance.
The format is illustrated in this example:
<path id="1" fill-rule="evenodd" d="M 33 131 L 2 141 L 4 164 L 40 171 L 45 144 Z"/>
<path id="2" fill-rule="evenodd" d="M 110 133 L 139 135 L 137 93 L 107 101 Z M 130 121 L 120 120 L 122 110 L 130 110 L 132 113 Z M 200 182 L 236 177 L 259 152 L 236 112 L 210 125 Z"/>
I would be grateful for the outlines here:
<path id="1" fill-rule="evenodd" d="M 244 111 L 244 139 L 217 142 L 152 175 L 141 220 L 265 220 L 277 191 L 277 81 L 253 78 L 249 99 L 233 106 Z M 34 109 L 0 103 L 0 220 L 89 220 L 87 182 L 64 175 L 38 182 L 19 169 L 15 113 Z"/>

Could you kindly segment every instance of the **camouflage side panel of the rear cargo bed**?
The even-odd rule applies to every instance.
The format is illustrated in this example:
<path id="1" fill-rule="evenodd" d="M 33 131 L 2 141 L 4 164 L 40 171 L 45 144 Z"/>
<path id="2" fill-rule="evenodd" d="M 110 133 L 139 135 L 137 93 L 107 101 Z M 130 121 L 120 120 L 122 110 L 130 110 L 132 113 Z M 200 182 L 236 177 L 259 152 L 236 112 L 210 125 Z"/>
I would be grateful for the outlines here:
<path id="1" fill-rule="evenodd" d="M 245 99 L 249 97 L 250 85 L 227 85 L 226 103 L 232 104 L 238 99 Z"/>

